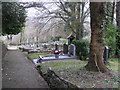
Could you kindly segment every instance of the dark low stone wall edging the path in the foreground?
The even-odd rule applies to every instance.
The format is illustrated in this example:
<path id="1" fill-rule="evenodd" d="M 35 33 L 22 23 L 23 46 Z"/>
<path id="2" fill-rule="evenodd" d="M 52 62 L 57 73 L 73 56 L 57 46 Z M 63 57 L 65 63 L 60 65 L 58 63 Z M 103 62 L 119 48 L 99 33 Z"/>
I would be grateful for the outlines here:
<path id="1" fill-rule="evenodd" d="M 37 68 L 40 75 L 45 79 L 50 88 L 78 88 L 76 85 L 58 76 L 54 71 L 48 69 L 46 73 L 43 73 L 41 67 Z"/>

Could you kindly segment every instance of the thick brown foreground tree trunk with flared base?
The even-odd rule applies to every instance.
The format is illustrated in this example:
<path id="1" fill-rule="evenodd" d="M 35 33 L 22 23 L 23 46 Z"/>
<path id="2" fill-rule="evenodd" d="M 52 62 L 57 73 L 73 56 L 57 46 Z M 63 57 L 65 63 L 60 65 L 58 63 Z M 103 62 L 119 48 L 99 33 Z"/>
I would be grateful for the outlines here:
<path id="1" fill-rule="evenodd" d="M 103 20 L 105 2 L 90 2 L 91 17 L 91 42 L 90 56 L 85 68 L 89 71 L 107 72 L 108 69 L 103 62 L 104 40 Z"/>

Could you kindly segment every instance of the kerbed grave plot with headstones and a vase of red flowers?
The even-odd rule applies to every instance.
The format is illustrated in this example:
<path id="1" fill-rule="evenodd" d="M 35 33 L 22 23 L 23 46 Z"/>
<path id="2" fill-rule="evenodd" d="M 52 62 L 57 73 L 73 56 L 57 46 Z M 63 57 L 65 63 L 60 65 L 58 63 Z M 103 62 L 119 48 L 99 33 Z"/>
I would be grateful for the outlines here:
<path id="1" fill-rule="evenodd" d="M 74 44 L 70 44 L 69 46 L 64 44 L 63 51 L 65 52 L 65 54 L 60 55 L 60 51 L 58 50 L 58 45 L 55 44 L 54 55 L 39 55 L 39 58 L 34 59 L 33 62 L 34 64 L 38 65 L 44 61 L 78 59 L 78 57 L 76 56 L 76 47 Z"/>

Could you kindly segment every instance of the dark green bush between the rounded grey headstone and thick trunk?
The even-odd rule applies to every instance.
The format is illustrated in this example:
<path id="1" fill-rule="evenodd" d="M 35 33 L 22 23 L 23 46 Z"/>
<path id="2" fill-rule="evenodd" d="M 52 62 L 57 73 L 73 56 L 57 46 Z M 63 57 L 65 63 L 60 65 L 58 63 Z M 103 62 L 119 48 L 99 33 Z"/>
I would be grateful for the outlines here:
<path id="1" fill-rule="evenodd" d="M 76 46 L 76 55 L 79 56 L 81 60 L 86 60 L 88 57 L 88 41 L 81 39 L 73 40 L 72 43 Z"/>

